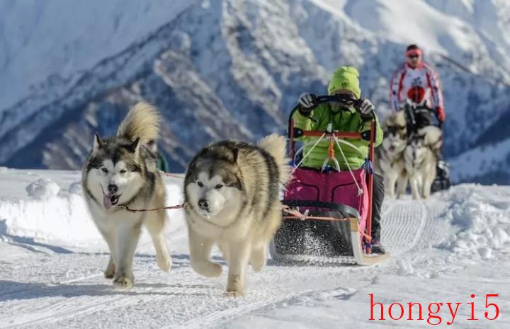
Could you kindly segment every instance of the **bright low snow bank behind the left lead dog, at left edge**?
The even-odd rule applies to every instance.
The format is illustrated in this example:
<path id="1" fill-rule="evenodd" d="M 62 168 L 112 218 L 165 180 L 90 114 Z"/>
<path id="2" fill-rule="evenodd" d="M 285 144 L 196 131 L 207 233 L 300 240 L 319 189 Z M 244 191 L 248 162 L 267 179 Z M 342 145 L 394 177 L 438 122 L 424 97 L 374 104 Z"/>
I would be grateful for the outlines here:
<path id="1" fill-rule="evenodd" d="M 38 178 L 38 175 L 51 179 Z M 79 175 L 79 172 L 33 173 L 11 169 L 0 173 L 0 189 L 3 190 L 0 193 L 0 239 L 33 239 L 66 247 L 103 243 L 86 207 Z M 18 185 L 20 180 L 28 179 L 33 181 L 26 185 L 27 198 Z M 180 202 L 180 180 L 166 181 L 169 183 L 166 185 L 167 202 Z M 6 191 L 9 198 L 4 195 Z"/>

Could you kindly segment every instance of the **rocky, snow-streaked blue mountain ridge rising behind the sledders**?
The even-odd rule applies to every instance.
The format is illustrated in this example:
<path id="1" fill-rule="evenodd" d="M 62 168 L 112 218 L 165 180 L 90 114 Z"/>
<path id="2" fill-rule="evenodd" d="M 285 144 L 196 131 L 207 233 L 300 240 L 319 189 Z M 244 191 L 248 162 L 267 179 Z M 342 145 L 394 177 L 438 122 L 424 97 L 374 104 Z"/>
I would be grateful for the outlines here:
<path id="1" fill-rule="evenodd" d="M 433 1 L 418 2 L 432 6 Z M 338 8 L 325 9 L 330 3 L 339 4 Z M 405 45 L 360 24 L 358 16 L 370 6 L 400 10 L 391 1 L 365 0 L 192 3 L 152 33 L 135 37 L 137 42 L 115 56 L 101 59 L 69 88 L 67 96 L 50 101 L 55 91 L 49 88 L 48 101 L 42 98 L 40 107 L 26 98 L 27 103 L 0 110 L 0 132 L 4 132 L 0 164 L 79 168 L 92 134 L 113 134 L 128 106 L 146 100 L 162 110 L 165 128 L 160 148 L 169 156 L 172 170 L 183 171 L 193 153 L 212 140 L 255 140 L 284 132 L 297 96 L 305 91 L 323 93 L 329 72 L 341 64 L 360 69 L 363 96 L 373 100 L 383 117 L 390 111 L 387 84 L 404 60 Z M 384 21 L 384 13 L 377 15 L 375 10 L 368 18 Z M 455 20 L 460 28 L 467 24 Z M 489 49 L 494 42 L 485 45 L 479 36 L 483 33 L 469 28 L 462 45 L 448 45 L 460 47 L 458 56 L 423 46 L 443 81 L 444 151 L 453 162 L 482 147 L 490 139 L 489 129 L 510 109 L 510 65 L 501 62 L 497 67 L 495 59 L 485 58 L 499 50 Z M 472 45 L 465 42 L 469 38 Z M 510 50 L 510 45 L 504 47 Z M 493 71 L 499 73 L 492 75 Z M 510 149 L 501 152 L 510 154 Z M 498 156 L 487 156 L 499 161 Z M 480 168 L 470 171 L 459 180 L 477 181 Z M 455 172 L 453 177 L 458 178 Z"/>

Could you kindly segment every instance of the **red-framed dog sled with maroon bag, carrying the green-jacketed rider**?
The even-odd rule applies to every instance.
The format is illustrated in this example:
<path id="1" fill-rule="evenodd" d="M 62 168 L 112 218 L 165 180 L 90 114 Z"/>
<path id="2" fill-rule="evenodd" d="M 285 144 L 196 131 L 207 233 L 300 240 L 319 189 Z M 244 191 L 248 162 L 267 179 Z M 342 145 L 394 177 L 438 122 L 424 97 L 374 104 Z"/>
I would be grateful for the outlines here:
<path id="1" fill-rule="evenodd" d="M 342 96 L 319 96 L 321 103 L 344 103 Z M 271 242 L 271 257 L 277 262 L 334 262 L 368 265 L 380 262 L 389 254 L 370 253 L 372 224 L 373 154 L 375 125 L 367 132 L 303 131 L 294 127 L 293 114 L 288 123 L 289 156 L 293 159 L 293 177 L 283 196 L 283 223 Z M 317 146 L 329 140 L 329 154 L 322 171 L 304 168 L 303 145 L 295 150 L 298 137 L 317 137 L 307 143 Z M 335 145 L 358 149 L 349 139 L 365 139 L 370 143 L 368 158 L 362 168 L 341 171 L 335 157 Z M 312 149 L 313 149 L 312 147 Z M 361 153 L 361 151 L 360 151 Z M 295 164 L 297 163 L 297 164 Z M 328 163 L 334 163 L 329 167 Z"/>

